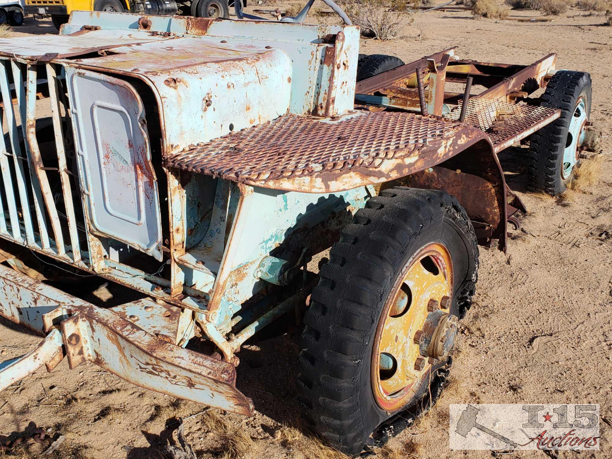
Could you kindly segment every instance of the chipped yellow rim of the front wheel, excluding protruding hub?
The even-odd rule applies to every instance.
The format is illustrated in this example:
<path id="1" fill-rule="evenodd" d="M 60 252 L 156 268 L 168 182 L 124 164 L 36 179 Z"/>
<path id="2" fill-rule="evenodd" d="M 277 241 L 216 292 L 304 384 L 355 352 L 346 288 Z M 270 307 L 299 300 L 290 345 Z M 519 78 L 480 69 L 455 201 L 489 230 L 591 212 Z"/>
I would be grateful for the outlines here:
<path id="1" fill-rule="evenodd" d="M 415 337 L 432 310 L 449 304 L 452 284 L 450 253 L 440 243 L 421 248 L 398 277 L 379 320 L 372 353 L 373 392 L 386 411 L 407 405 L 430 372 L 432 364 L 420 354 Z"/>

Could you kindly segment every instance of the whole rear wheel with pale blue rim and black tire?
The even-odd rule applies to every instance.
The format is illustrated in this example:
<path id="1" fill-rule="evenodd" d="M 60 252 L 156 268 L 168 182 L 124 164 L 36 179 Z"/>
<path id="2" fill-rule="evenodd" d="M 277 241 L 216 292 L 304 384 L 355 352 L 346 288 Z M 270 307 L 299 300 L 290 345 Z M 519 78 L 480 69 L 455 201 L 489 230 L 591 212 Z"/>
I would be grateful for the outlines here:
<path id="1" fill-rule="evenodd" d="M 569 70 L 555 73 L 541 105 L 560 108 L 561 116 L 531 135 L 528 189 L 555 196 L 565 191 L 578 166 L 591 114 L 591 75 Z"/>

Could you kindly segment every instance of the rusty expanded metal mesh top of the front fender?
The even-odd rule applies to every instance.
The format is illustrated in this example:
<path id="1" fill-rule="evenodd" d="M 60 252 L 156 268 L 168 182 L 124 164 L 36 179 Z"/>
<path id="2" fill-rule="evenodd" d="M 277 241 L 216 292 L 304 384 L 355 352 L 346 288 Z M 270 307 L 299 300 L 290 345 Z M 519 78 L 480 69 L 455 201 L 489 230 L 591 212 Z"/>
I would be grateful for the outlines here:
<path id="1" fill-rule="evenodd" d="M 460 123 L 415 114 L 364 112 L 341 121 L 294 114 L 198 144 L 165 164 L 233 181 L 305 176 L 318 171 L 378 167 L 456 132 Z"/>

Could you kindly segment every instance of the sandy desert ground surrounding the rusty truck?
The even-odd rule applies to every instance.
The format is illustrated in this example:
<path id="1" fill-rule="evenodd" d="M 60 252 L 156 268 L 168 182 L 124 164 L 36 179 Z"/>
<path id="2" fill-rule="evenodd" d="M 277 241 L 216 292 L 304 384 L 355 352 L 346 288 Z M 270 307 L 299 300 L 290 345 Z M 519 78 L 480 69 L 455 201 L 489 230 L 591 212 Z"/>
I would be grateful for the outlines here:
<path id="1" fill-rule="evenodd" d="M 532 15 L 539 13 L 512 12 L 511 18 Z M 455 45 L 461 58 L 490 62 L 530 64 L 558 53 L 558 69 L 591 73 L 591 119 L 603 130 L 602 149 L 591 160 L 597 170 L 593 183 L 583 180 L 562 198 L 525 192 L 521 148 L 500 154 L 510 187 L 529 209 L 520 217 L 523 230 L 512 233 L 507 255 L 481 249 L 478 291 L 463 320 L 449 387 L 433 409 L 377 450 L 378 457 L 491 457 L 488 451 L 448 448 L 448 405 L 468 402 L 599 403 L 602 449 L 580 458 L 612 457 L 612 27 L 603 21 L 577 9 L 549 23 L 428 12 L 417 15 L 401 39 L 362 40 L 362 53 L 395 54 L 406 62 Z M 14 34 L 53 32 L 50 21 L 26 18 Z M 99 281 L 81 288 L 86 299 L 127 300 L 125 291 Z M 2 321 L 2 359 L 38 341 Z M 212 409 L 197 414 L 203 406 L 131 386 L 93 364 L 70 371 L 64 360 L 53 373 L 37 371 L 0 393 L 0 438 L 39 427 L 51 438 L 66 438 L 49 457 L 162 459 L 163 447 L 176 441 L 177 418 L 197 414 L 185 420 L 185 433 L 199 458 L 343 457 L 299 431 L 296 349 L 280 335 L 241 352 L 237 387 L 255 401 L 252 418 Z M 38 457 L 46 446 L 30 440 L 4 454 Z"/>

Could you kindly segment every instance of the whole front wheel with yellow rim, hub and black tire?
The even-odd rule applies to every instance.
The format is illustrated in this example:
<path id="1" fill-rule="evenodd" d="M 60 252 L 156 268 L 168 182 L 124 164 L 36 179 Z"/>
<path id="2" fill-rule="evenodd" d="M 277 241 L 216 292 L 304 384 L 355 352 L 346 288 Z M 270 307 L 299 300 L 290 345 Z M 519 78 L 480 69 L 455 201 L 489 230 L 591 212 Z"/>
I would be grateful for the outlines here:
<path id="1" fill-rule="evenodd" d="M 478 256 L 466 212 L 445 192 L 389 188 L 357 212 L 321 268 L 300 338 L 300 403 L 324 441 L 359 453 L 378 425 L 430 392 L 474 294 Z"/>

